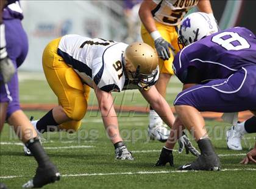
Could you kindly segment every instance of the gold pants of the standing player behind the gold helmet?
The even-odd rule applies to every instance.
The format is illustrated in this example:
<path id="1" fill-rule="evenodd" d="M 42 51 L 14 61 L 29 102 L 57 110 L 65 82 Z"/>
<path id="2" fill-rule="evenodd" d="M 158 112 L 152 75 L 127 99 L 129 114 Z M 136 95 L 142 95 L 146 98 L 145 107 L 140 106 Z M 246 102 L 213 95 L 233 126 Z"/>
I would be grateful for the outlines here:
<path id="1" fill-rule="evenodd" d="M 159 22 L 155 22 L 155 26 L 157 27 L 158 32 L 162 35 L 163 39 L 168 41 L 172 47 L 174 47 L 175 52 L 179 52 L 179 46 L 178 46 L 178 34 L 176 32 L 175 26 L 166 26 L 164 24 L 160 24 Z M 144 43 L 149 44 L 151 47 L 155 48 L 154 40 L 152 39 L 151 35 L 148 33 L 146 28 L 141 25 L 141 38 L 144 41 Z M 171 49 L 170 53 L 171 53 Z M 174 55 L 171 53 L 171 57 L 169 60 L 163 61 L 161 58 L 159 58 L 159 68 L 160 73 L 163 74 L 174 74 L 172 70 L 172 61 L 174 59 Z"/>

